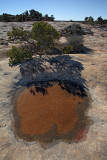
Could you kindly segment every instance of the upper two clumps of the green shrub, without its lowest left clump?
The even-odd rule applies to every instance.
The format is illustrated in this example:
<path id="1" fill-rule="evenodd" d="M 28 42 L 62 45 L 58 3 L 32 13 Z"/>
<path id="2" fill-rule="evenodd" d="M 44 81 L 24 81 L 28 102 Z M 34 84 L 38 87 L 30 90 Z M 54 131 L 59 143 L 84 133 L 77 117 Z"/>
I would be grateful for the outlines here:
<path id="1" fill-rule="evenodd" d="M 54 40 L 59 38 L 59 32 L 46 22 L 34 23 L 31 32 L 23 27 L 12 27 L 12 31 L 7 32 L 7 35 L 9 40 L 26 41 L 39 50 L 53 47 Z"/>

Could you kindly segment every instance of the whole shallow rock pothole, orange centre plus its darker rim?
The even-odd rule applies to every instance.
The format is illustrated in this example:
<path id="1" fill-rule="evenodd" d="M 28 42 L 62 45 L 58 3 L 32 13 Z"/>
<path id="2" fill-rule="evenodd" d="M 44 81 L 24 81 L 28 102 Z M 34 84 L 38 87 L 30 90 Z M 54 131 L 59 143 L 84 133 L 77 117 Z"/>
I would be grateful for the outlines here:
<path id="1" fill-rule="evenodd" d="M 69 81 L 38 82 L 13 99 L 15 135 L 26 141 L 79 141 L 86 133 L 89 97 Z"/>

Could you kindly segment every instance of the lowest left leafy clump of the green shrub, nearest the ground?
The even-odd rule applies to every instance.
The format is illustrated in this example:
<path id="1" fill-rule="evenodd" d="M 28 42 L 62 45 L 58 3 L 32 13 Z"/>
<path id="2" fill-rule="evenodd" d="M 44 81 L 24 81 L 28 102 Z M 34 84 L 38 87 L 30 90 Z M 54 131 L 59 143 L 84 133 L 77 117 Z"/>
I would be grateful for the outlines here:
<path id="1" fill-rule="evenodd" d="M 32 54 L 29 50 L 26 50 L 24 48 L 16 48 L 15 46 L 13 46 L 7 54 L 9 56 L 9 65 L 23 62 L 27 59 L 32 58 Z"/>

